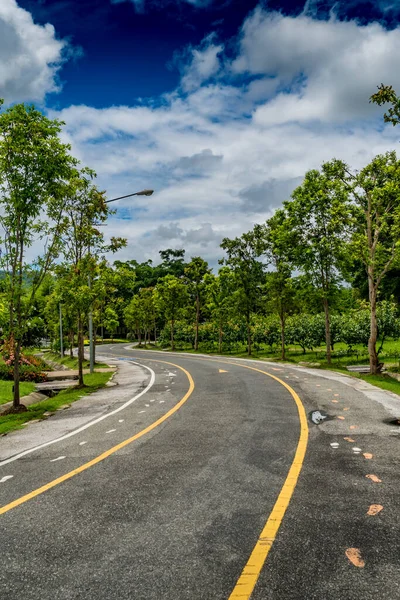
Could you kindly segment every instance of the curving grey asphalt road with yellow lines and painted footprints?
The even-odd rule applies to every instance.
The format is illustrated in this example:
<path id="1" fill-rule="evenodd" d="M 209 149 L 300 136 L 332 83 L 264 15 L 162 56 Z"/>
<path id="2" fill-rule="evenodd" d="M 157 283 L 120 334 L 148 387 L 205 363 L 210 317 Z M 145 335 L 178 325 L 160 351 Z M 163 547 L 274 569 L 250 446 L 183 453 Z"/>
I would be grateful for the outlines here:
<path id="1" fill-rule="evenodd" d="M 101 354 L 155 382 L 118 414 L 0 463 L 0 598 L 400 599 L 400 428 L 382 404 L 296 368 Z M 328 418 L 301 432 L 302 410 Z M 240 579 L 251 555 L 254 589 Z"/>

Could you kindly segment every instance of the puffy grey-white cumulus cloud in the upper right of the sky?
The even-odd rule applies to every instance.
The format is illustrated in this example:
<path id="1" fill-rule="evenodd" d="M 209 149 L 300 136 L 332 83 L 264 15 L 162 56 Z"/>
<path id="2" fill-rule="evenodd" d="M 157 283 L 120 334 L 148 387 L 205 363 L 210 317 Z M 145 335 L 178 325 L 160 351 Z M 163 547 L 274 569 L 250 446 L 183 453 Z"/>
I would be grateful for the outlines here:
<path id="1" fill-rule="evenodd" d="M 379 23 L 285 17 L 256 9 L 243 25 L 236 73 L 276 78 L 281 92 L 255 116 L 260 124 L 288 120 L 345 121 L 377 114 L 369 97 L 381 81 L 400 86 L 399 29 Z"/>

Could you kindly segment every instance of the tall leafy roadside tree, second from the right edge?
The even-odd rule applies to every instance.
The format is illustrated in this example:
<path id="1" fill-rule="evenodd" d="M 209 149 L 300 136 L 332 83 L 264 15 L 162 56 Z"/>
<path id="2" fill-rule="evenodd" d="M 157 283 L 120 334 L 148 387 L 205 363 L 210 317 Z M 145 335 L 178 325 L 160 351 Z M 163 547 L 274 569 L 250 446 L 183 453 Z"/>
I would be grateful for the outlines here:
<path id="1" fill-rule="evenodd" d="M 325 314 L 325 342 L 331 363 L 330 299 L 340 281 L 349 228 L 348 194 L 338 179 L 317 170 L 285 202 L 293 234 L 293 261 L 319 292 Z"/>

